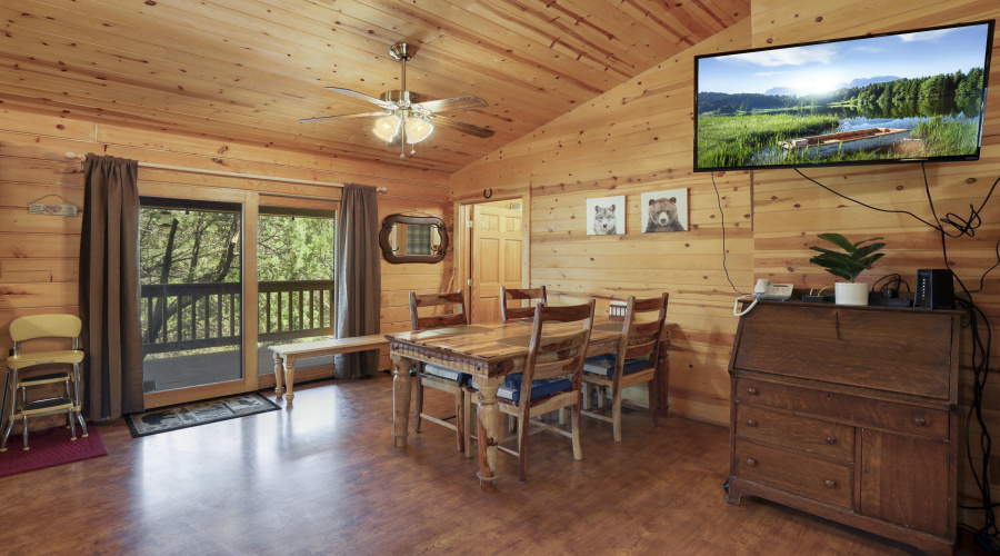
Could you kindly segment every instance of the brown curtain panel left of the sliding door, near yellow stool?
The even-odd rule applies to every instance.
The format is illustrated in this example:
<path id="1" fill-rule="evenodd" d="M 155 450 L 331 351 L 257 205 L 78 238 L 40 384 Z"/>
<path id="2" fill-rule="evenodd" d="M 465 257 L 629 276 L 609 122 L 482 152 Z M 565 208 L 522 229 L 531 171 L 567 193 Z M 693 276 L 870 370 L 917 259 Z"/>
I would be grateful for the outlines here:
<path id="1" fill-rule="evenodd" d="M 139 322 L 139 163 L 87 155 L 80 236 L 83 415 L 142 411 Z"/>

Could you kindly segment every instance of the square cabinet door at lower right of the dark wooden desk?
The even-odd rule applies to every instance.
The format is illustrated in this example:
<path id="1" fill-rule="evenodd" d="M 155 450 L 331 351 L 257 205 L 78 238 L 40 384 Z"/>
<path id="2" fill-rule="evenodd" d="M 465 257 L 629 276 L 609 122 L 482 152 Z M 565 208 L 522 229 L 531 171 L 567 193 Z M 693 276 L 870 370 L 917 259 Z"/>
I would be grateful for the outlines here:
<path id="1" fill-rule="evenodd" d="M 954 538 L 951 447 L 889 433 L 861 434 L 861 513 Z"/>

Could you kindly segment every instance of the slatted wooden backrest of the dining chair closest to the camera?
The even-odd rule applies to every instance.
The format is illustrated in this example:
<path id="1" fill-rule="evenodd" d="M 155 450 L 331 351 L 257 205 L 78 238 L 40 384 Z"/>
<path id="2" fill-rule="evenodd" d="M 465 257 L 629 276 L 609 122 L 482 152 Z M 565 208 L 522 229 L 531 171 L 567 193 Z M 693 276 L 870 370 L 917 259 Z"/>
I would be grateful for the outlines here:
<path id="1" fill-rule="evenodd" d="M 521 380 L 522 400 L 531 399 L 533 380 L 571 376 L 573 389 L 580 389 L 587 345 L 593 329 L 593 299 L 583 305 L 548 307 L 538 304 L 534 307 L 531 341 Z M 580 327 L 566 326 L 573 322 Z"/>

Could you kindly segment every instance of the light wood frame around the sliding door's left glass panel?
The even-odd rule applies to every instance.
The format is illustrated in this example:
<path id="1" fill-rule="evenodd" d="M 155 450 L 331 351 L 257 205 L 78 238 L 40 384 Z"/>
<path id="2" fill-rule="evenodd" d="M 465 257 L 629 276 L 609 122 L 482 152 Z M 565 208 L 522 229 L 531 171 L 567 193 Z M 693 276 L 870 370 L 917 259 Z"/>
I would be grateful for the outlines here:
<path id="1" fill-rule="evenodd" d="M 243 318 L 240 326 L 242 326 L 243 331 L 241 345 L 243 378 L 226 383 L 178 388 L 176 390 L 147 393 L 143 395 L 146 409 L 258 390 L 260 380 L 259 369 L 257 368 L 257 328 L 259 320 L 257 311 L 257 215 L 260 196 L 257 191 L 141 180 L 139 181 L 139 195 L 184 200 L 238 202 L 243 207 L 241 214 L 242 229 L 240 232 L 242 236 L 242 246 L 240 246 L 242 251 L 240 281 L 242 282 L 241 314 Z M 247 269 L 252 269 L 253 271 L 248 274 Z M 248 302 L 248 299 L 252 299 L 253 302 Z"/>

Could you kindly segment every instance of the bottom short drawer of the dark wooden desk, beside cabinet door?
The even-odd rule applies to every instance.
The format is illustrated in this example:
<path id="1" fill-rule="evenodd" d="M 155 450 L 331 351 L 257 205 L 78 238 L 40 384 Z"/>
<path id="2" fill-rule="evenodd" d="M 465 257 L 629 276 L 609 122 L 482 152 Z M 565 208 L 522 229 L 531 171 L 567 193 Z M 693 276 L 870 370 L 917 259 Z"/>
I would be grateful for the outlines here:
<path id="1" fill-rule="evenodd" d="M 832 506 L 851 508 L 854 467 L 744 440 L 736 441 L 734 476 Z"/>

